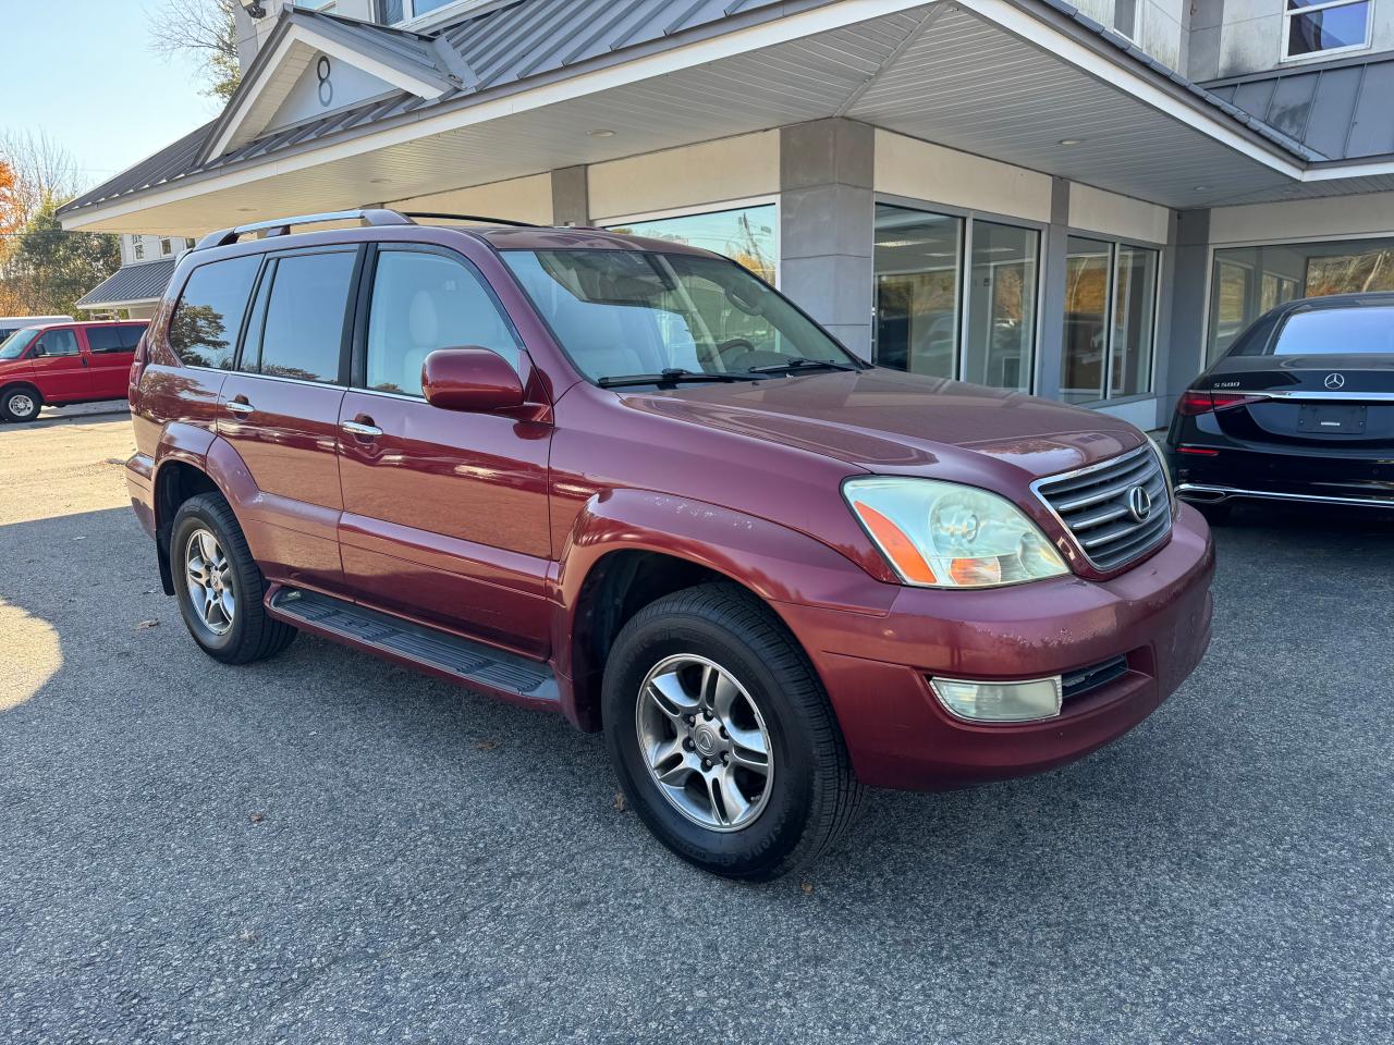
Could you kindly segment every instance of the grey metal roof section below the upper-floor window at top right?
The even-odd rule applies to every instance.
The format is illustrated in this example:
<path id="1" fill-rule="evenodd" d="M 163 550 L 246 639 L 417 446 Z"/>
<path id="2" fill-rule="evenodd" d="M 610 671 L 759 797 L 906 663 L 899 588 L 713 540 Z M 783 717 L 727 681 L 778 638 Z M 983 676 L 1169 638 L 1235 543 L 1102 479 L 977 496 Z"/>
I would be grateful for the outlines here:
<path id="1" fill-rule="evenodd" d="M 1394 153 L 1394 54 L 1234 77 L 1206 88 L 1323 160 Z"/>

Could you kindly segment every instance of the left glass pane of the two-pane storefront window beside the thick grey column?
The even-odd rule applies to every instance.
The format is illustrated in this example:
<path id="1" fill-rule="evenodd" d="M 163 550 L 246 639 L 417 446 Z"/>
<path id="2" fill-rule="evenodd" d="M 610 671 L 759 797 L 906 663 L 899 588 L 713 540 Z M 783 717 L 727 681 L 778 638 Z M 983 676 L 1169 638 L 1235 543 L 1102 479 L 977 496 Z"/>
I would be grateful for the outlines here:
<path id="1" fill-rule="evenodd" d="M 962 256 L 963 219 L 877 206 L 877 362 L 955 376 Z"/>

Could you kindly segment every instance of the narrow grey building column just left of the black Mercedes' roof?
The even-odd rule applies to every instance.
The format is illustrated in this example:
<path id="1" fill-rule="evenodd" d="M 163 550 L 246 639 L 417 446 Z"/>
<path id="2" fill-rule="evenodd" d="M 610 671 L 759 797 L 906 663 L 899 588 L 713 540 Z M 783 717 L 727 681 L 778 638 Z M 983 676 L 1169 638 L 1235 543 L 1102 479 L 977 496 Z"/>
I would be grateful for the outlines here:
<path id="1" fill-rule="evenodd" d="M 1204 366 L 1207 332 L 1206 277 L 1210 266 L 1210 212 L 1174 210 L 1168 254 L 1171 301 L 1163 301 L 1157 346 L 1157 394 L 1161 418 L 1171 417 L 1177 398 Z"/>

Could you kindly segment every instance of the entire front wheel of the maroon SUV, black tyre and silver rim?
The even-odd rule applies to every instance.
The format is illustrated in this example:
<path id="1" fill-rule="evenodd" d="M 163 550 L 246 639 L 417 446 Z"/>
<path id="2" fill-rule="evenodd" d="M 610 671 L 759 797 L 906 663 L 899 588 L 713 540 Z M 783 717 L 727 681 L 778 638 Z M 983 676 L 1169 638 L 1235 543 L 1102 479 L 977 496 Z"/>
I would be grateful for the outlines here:
<path id="1" fill-rule="evenodd" d="M 615 640 L 601 699 L 630 805 L 704 871 L 785 875 L 827 850 L 861 800 L 813 665 L 735 584 L 640 610 Z"/>

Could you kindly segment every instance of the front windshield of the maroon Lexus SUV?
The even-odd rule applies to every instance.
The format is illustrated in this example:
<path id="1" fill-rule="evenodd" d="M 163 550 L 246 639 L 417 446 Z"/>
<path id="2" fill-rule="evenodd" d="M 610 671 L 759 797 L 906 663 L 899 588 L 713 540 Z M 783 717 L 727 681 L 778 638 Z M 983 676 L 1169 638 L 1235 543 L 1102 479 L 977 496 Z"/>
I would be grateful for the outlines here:
<path id="1" fill-rule="evenodd" d="M 751 375 L 860 364 L 735 262 L 641 251 L 505 251 L 572 361 L 591 380 Z"/>

